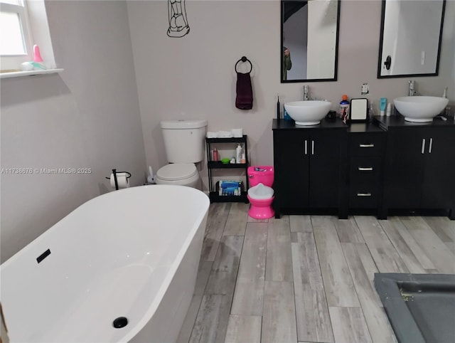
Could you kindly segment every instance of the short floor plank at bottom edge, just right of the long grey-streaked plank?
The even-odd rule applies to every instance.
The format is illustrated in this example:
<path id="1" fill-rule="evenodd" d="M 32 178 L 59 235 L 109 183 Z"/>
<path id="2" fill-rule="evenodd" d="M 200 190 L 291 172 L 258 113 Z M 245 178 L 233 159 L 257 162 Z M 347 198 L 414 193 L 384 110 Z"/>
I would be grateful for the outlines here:
<path id="1" fill-rule="evenodd" d="M 360 307 L 329 307 L 336 343 L 372 342 Z"/>

